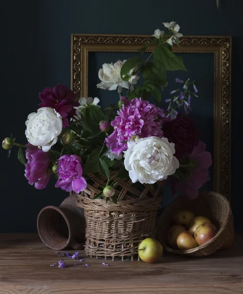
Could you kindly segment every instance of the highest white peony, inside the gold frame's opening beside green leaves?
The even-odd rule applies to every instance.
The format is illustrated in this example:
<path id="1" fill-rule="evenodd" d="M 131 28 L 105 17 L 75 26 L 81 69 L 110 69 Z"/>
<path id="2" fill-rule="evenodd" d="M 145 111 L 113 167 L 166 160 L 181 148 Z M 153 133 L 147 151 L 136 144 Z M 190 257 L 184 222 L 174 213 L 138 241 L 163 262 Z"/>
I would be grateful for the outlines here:
<path id="1" fill-rule="evenodd" d="M 101 83 L 97 84 L 98 88 L 106 90 L 116 90 L 121 93 L 122 88 L 129 89 L 130 82 L 121 79 L 121 68 L 126 60 L 118 60 L 113 63 L 104 63 L 102 69 L 99 70 L 99 79 Z M 132 79 L 134 80 L 134 78 Z M 134 84 L 135 82 L 133 82 Z M 130 89 L 133 90 L 133 84 Z"/>

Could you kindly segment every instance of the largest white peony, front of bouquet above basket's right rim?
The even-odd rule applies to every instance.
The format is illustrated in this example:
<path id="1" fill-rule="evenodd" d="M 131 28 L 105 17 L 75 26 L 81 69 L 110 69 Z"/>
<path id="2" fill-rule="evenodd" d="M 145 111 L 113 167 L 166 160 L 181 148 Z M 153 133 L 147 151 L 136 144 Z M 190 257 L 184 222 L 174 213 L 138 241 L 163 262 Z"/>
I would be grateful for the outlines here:
<path id="1" fill-rule="evenodd" d="M 124 153 L 125 169 L 133 183 L 154 184 L 176 172 L 179 167 L 173 143 L 167 138 L 149 137 L 128 142 Z"/>

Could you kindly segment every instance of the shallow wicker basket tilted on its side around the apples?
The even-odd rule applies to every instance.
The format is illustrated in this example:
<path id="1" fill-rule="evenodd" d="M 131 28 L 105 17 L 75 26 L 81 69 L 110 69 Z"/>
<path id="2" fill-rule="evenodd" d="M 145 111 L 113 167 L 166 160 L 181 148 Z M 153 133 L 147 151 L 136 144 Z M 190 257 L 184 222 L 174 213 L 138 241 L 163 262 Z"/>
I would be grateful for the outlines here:
<path id="1" fill-rule="evenodd" d="M 190 250 L 170 248 L 167 245 L 167 237 L 170 227 L 174 224 L 172 216 L 181 209 L 191 210 L 195 216 L 207 217 L 217 227 L 217 235 L 207 243 Z M 173 201 L 158 218 L 156 237 L 168 252 L 199 257 L 210 255 L 220 249 L 229 239 L 233 229 L 233 215 L 229 201 L 221 194 L 207 191 L 200 192 L 194 200 L 181 196 Z"/>

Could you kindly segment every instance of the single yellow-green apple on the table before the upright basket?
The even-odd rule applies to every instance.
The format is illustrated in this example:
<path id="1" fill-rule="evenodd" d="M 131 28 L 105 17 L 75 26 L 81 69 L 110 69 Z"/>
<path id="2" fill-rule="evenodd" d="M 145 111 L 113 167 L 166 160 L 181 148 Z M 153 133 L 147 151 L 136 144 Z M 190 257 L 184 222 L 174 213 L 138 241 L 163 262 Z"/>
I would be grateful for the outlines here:
<path id="1" fill-rule="evenodd" d="M 155 263 L 162 257 L 163 247 L 157 240 L 147 238 L 138 246 L 138 255 L 144 262 Z"/>

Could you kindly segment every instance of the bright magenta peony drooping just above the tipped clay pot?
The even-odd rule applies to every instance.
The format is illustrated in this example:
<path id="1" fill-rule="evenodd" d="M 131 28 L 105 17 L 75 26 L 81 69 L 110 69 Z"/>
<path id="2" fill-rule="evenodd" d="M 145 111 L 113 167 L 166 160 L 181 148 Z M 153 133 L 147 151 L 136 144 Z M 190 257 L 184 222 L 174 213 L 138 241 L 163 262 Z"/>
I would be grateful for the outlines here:
<path id="1" fill-rule="evenodd" d="M 79 193 L 84 191 L 87 183 L 82 176 L 81 158 L 77 155 L 63 155 L 58 162 L 58 180 L 55 187 L 66 192 L 74 191 Z"/>

